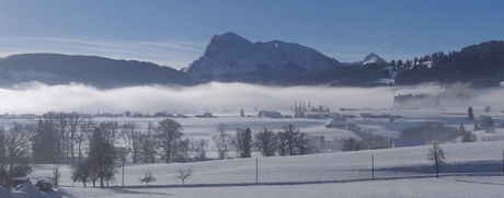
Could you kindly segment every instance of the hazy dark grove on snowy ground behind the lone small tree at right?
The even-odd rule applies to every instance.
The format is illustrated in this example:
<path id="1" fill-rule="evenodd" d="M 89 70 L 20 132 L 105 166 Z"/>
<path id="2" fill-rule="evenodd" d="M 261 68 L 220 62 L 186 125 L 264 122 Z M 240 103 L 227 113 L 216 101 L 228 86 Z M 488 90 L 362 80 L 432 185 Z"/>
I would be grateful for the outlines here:
<path id="1" fill-rule="evenodd" d="M 437 141 L 449 141 L 454 138 L 460 137 L 466 132 L 463 126 L 460 128 L 457 127 L 446 127 L 440 121 L 425 121 L 421 123 L 416 127 L 408 127 L 401 130 L 399 133 L 400 138 L 412 138 L 412 137 L 422 137 L 426 142 Z"/>

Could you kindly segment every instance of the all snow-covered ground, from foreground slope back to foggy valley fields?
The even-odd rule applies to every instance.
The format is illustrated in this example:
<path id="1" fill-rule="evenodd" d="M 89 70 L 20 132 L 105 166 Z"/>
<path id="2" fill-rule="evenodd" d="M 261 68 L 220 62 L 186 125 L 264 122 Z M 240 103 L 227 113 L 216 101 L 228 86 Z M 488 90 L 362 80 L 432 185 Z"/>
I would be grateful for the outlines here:
<path id="1" fill-rule="evenodd" d="M 380 91 L 380 89 L 374 91 Z M 495 92 L 500 93 L 501 91 Z M 360 93 L 364 95 L 364 91 L 356 93 L 358 94 L 353 96 L 359 96 Z M 393 92 L 392 94 L 399 93 L 402 92 Z M 341 97 L 356 101 L 364 98 Z M 389 101 L 383 102 L 380 98 Z M 504 123 L 504 113 L 501 112 L 504 106 L 502 106 L 502 102 L 496 102 L 497 98 L 501 97 L 482 95 L 479 97 L 481 103 L 471 103 L 474 108 L 474 118 L 486 115 L 491 116 L 495 124 Z M 397 138 L 401 129 L 417 126 L 423 121 L 443 121 L 449 127 L 463 125 L 467 131 L 473 129 L 474 120 L 467 119 L 469 105 L 463 104 L 463 106 L 459 105 L 458 108 L 448 109 L 400 110 L 390 108 L 390 105 L 387 108 L 381 108 L 387 106 L 383 104 L 389 104 L 390 100 L 388 96 L 371 98 L 366 95 L 366 100 L 363 101 L 371 107 L 378 106 L 376 109 L 337 112 L 337 108 L 332 106 L 331 108 L 340 114 L 356 115 L 357 118 L 352 118 L 348 121 L 355 123 L 363 130 L 390 138 Z M 342 102 L 333 105 L 345 108 L 363 106 L 350 104 L 354 103 Z M 483 107 L 485 105 L 492 105 L 493 112 L 484 113 Z M 245 112 L 245 114 L 256 115 L 253 112 Z M 282 112 L 282 114 L 291 115 L 289 112 Z M 390 121 L 388 118 L 358 117 L 360 114 L 389 114 L 401 117 Z M 330 119 L 239 117 L 238 113 L 215 113 L 215 115 L 217 118 L 195 118 L 194 115 L 190 115 L 190 118 L 174 119 L 181 123 L 185 138 L 195 140 L 199 138 L 209 139 L 216 133 L 215 127 L 220 123 L 227 125 L 228 132 L 232 135 L 237 128 L 248 127 L 252 130 L 266 127 L 278 132 L 283 130 L 283 126 L 293 124 L 300 131 L 310 136 L 323 135 L 325 140 L 357 137 L 350 130 L 325 128 L 324 125 Z M 162 118 L 95 118 L 94 120 L 108 121 L 111 119 L 117 120 L 119 124 L 135 121 L 146 127 L 149 121 L 157 124 Z M 35 123 L 35 120 L 16 121 Z M 0 120 L 0 125 L 5 127 L 11 123 L 12 120 Z M 83 187 L 80 183 L 73 184 L 70 179 L 71 166 L 58 165 L 62 171 L 62 179 L 61 187 L 56 191 L 44 194 L 32 186 L 20 186 L 12 190 L 13 194 L 0 188 L 0 197 L 503 197 L 501 194 L 504 186 L 504 141 L 502 141 L 504 140 L 504 129 L 496 128 L 495 133 L 486 133 L 483 130 L 473 133 L 478 136 L 478 142 L 459 143 L 460 141 L 453 141 L 440 145 L 446 152 L 447 164 L 438 179 L 433 178 L 435 175 L 434 167 L 426 160 L 426 154 L 432 145 L 421 145 L 302 156 L 261 158 L 256 154 L 252 159 L 210 160 L 198 163 L 127 163 L 125 186 L 122 186 L 123 177 L 121 173 L 117 173 L 116 182 L 105 188 L 93 188 L 90 187 L 91 184 L 88 184 L 88 187 Z M 121 145 L 122 143 L 117 142 L 117 144 Z M 371 178 L 371 158 L 375 160 L 375 178 Z M 50 175 L 54 166 L 34 165 L 34 172 L 30 176 Z M 174 178 L 176 171 L 188 167 L 195 168 L 195 173 L 185 180 L 185 185 L 181 185 L 181 180 Z M 257 184 L 256 168 L 259 171 Z M 149 186 L 139 182 L 139 178 L 147 171 L 152 172 L 158 179 Z"/>

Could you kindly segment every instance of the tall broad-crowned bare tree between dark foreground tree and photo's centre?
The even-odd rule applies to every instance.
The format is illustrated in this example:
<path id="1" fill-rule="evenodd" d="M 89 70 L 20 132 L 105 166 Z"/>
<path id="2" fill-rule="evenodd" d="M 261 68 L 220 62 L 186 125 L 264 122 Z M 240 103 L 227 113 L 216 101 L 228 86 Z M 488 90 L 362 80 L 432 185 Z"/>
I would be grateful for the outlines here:
<path id="1" fill-rule="evenodd" d="M 171 154 L 176 150 L 176 142 L 184 136 L 182 126 L 173 119 L 163 119 L 158 124 L 158 136 L 165 162 L 170 163 Z"/>

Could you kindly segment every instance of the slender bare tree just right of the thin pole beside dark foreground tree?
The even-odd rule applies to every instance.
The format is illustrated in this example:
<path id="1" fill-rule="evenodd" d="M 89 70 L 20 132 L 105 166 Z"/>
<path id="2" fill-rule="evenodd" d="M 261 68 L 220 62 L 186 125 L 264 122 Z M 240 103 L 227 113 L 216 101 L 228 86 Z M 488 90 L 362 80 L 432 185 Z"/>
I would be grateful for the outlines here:
<path id="1" fill-rule="evenodd" d="M 133 163 L 138 163 L 138 158 L 140 153 L 140 127 L 133 123 L 128 121 L 123 125 L 121 129 L 121 137 L 126 144 L 126 149 L 131 154 Z"/>

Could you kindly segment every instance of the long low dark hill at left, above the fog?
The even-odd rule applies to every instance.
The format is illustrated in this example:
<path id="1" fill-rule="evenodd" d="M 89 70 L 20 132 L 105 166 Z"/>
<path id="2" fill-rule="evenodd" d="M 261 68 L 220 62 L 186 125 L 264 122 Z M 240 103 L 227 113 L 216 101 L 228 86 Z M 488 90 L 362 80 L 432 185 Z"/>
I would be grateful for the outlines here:
<path id="1" fill-rule="evenodd" d="M 45 84 L 84 83 L 99 89 L 147 84 L 194 85 L 201 82 L 182 71 L 136 60 L 95 56 L 23 54 L 0 59 L 0 85 L 38 81 Z"/>

